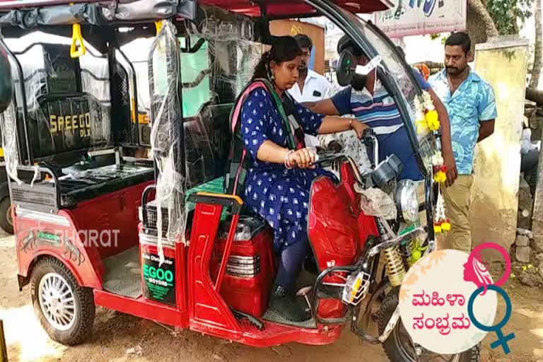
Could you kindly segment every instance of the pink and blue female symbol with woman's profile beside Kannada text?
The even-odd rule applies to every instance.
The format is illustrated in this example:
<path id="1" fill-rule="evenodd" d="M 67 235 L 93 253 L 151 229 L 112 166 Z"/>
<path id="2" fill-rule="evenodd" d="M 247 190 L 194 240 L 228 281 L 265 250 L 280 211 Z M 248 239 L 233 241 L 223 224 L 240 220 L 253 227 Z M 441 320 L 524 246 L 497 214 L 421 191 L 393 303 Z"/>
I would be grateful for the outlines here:
<path id="1" fill-rule="evenodd" d="M 500 280 L 496 281 L 494 284 L 489 284 L 489 281 L 491 279 L 488 277 L 489 270 L 488 267 L 486 269 L 481 268 L 481 265 L 484 265 L 480 262 L 479 252 L 483 249 L 494 249 L 500 252 L 500 254 L 503 256 L 503 260 L 506 262 L 506 271 L 503 273 L 503 276 Z M 484 332 L 496 332 L 496 336 L 498 339 L 490 345 L 493 349 L 497 346 L 501 346 L 503 348 L 503 351 L 505 354 L 509 354 L 510 349 L 507 344 L 508 341 L 515 338 L 515 334 L 510 333 L 503 336 L 503 332 L 501 329 L 505 327 L 507 322 L 509 321 L 509 318 L 511 317 L 511 300 L 509 296 L 507 295 L 506 291 L 504 291 L 502 288 L 500 288 L 501 285 L 503 285 L 507 279 L 509 279 L 510 273 L 511 273 L 511 260 L 509 259 L 508 252 L 506 252 L 503 247 L 501 247 L 498 244 L 495 243 L 484 243 L 476 247 L 472 253 L 469 255 L 469 258 L 467 259 L 467 263 L 464 264 L 465 272 L 464 272 L 464 280 L 465 281 L 472 281 L 479 288 L 477 288 L 476 291 L 472 293 L 472 296 L 469 297 L 469 301 L 467 303 L 467 313 L 469 315 L 469 319 L 472 320 L 472 323 L 475 327 L 481 329 Z M 501 322 L 499 322 L 495 326 L 486 326 L 482 325 L 476 318 L 473 313 L 473 304 L 475 301 L 475 298 L 477 296 L 482 296 L 484 293 L 486 293 L 487 289 L 490 289 L 491 291 L 495 291 L 506 302 L 506 314 L 503 316 L 503 319 Z"/>

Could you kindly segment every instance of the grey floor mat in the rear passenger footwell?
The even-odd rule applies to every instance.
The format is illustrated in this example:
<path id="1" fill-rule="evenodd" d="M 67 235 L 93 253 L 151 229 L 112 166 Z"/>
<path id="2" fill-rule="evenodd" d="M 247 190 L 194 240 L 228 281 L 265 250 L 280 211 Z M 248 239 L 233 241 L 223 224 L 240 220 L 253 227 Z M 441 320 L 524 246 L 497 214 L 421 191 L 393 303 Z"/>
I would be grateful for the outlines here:
<path id="1" fill-rule="evenodd" d="M 103 263 L 105 275 L 102 287 L 106 291 L 134 299 L 141 296 L 139 247 L 108 257 Z"/>

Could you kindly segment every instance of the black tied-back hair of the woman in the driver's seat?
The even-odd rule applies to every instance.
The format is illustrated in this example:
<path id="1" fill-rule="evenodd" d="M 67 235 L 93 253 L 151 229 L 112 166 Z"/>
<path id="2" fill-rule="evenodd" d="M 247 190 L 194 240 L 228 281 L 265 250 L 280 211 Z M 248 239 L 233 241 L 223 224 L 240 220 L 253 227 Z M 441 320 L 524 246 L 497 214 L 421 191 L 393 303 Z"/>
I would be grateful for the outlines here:
<path id="1" fill-rule="evenodd" d="M 262 58 L 255 67 L 255 73 L 251 80 L 257 78 L 271 79 L 271 69 L 269 63 L 274 60 L 277 64 L 290 62 L 296 57 L 302 56 L 302 49 L 293 37 L 276 37 L 276 40 L 269 51 L 262 54 Z"/>

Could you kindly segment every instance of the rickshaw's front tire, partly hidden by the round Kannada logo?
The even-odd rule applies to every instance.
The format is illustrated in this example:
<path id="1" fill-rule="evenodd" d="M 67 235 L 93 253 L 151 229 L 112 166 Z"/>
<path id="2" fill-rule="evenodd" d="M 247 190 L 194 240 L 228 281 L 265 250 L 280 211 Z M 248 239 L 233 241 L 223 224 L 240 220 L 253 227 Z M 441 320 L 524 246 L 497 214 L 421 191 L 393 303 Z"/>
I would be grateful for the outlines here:
<path id="1" fill-rule="evenodd" d="M 379 334 L 383 334 L 383 332 L 385 331 L 385 327 L 399 303 L 398 292 L 399 288 L 392 289 L 392 291 L 390 291 L 390 293 L 385 296 L 385 300 L 383 300 L 383 303 L 381 304 L 381 307 L 377 314 Z M 383 343 L 383 349 L 385 350 L 385 354 L 387 354 L 390 362 L 416 361 L 416 358 L 414 357 L 414 351 L 407 350 L 407 348 L 405 348 L 404 346 L 404 343 L 399 340 L 401 338 L 400 336 L 404 335 L 402 334 L 402 332 L 405 332 L 405 334 L 407 334 L 407 331 L 404 329 L 402 320 L 400 319 L 392 333 L 390 333 L 390 336 Z M 460 356 L 458 356 L 458 358 L 455 358 L 455 356 L 450 356 L 451 361 L 456 362 L 479 362 L 480 358 L 480 343 L 473 346 L 471 349 L 462 352 Z M 420 357 L 419 361 L 421 361 Z"/>

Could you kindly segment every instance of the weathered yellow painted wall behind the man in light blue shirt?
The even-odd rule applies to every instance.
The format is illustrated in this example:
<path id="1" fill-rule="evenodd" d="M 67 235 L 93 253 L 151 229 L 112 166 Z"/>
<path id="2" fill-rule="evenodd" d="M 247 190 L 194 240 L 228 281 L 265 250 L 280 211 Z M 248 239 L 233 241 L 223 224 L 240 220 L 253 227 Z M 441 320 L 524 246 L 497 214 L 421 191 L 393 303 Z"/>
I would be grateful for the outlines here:
<path id="1" fill-rule="evenodd" d="M 528 43 L 502 40 L 477 45 L 475 71 L 494 88 L 498 118 L 494 134 L 475 151 L 472 187 L 472 246 L 515 242 Z M 498 254 L 486 255 L 501 259 Z"/>

